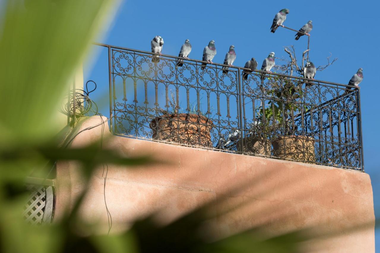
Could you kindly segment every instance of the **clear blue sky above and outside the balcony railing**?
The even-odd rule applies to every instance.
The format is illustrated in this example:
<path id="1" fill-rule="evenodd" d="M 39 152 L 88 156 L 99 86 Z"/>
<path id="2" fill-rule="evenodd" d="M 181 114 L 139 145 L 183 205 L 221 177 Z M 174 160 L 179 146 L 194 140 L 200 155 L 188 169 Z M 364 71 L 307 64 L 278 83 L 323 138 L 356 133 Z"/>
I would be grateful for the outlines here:
<path id="1" fill-rule="evenodd" d="M 340 2 L 340 1 L 339 1 Z M 315 65 L 324 65 L 331 52 L 338 61 L 327 70 L 317 72 L 318 80 L 347 84 L 358 68 L 363 68 L 361 106 L 365 170 L 370 175 L 374 191 L 375 215 L 380 217 L 380 165 L 377 125 L 380 118 L 377 78 L 378 19 L 375 13 L 377 1 L 137 1 L 120 5 L 114 21 L 98 42 L 115 46 L 150 51 L 150 40 L 155 35 L 163 37 L 163 54 L 178 55 L 186 39 L 192 44 L 190 58 L 202 58 L 203 48 L 215 40 L 217 55 L 214 62 L 223 63 L 231 44 L 235 46 L 234 65 L 244 66 L 255 57 L 259 67 L 269 52 L 276 57 L 286 56 L 283 46 L 294 45 L 299 52 L 306 49 L 307 38 L 294 40 L 295 33 L 279 28 L 270 32 L 274 15 L 282 8 L 290 9 L 284 25 L 299 29 L 307 21 L 313 21 L 310 33 L 310 59 Z M 369 9 L 371 8 L 371 9 Z M 107 91 L 108 62 L 106 50 L 94 47 L 90 60 L 85 64 L 85 81 L 92 79 L 98 90 Z M 105 87 L 105 88 L 104 88 Z M 97 99 L 107 98 L 107 92 L 95 94 Z M 105 100 L 107 101 L 107 100 Z M 99 104 L 107 108 L 108 104 Z M 380 231 L 375 231 L 376 245 L 380 243 Z"/>

